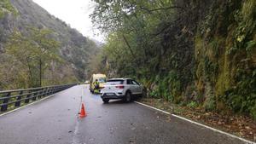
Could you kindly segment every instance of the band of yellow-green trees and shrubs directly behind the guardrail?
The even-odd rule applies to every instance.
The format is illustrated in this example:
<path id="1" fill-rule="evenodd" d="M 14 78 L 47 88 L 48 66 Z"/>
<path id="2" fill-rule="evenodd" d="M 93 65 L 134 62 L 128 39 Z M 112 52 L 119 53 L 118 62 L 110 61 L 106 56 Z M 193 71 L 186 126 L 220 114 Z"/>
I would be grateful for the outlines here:
<path id="1" fill-rule="evenodd" d="M 0 86 L 3 89 L 17 89 L 76 82 L 74 76 L 60 78 L 55 72 L 55 67 L 67 62 L 59 56 L 60 44 L 52 38 L 53 33 L 48 29 L 33 27 L 28 28 L 27 32 L 27 36 L 13 32 L 5 44 Z M 62 74 L 66 75 L 65 72 Z"/>

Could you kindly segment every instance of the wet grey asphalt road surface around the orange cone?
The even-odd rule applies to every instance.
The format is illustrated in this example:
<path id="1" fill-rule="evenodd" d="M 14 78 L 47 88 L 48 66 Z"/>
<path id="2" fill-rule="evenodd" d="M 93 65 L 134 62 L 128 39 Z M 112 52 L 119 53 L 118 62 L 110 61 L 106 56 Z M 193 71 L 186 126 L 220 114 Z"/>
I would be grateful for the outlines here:
<path id="1" fill-rule="evenodd" d="M 78 118 L 82 101 L 88 114 Z M 229 136 L 136 103 L 110 101 L 75 86 L 0 117 L 0 144 L 239 144 Z"/>

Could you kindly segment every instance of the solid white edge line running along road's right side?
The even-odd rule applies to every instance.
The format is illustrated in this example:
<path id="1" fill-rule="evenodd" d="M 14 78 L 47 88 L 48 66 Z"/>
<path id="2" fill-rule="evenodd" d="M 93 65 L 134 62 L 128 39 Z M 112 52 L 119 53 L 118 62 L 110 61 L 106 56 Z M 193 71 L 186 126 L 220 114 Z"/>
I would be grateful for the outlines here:
<path id="1" fill-rule="evenodd" d="M 232 137 L 232 138 L 239 139 L 240 141 L 244 141 L 244 142 L 246 142 L 247 144 L 256 144 L 256 143 L 253 142 L 253 141 L 248 141 L 248 140 L 246 140 L 246 139 L 244 139 L 244 138 L 241 138 L 241 137 L 239 137 L 239 136 L 232 135 L 232 134 L 227 133 L 227 132 L 224 132 L 224 131 L 222 131 L 222 130 L 218 130 L 218 129 L 212 128 L 212 127 L 207 126 L 207 125 L 205 125 L 205 124 L 197 123 L 197 122 L 195 122 L 195 121 L 193 121 L 193 120 L 190 120 L 190 119 L 188 119 L 188 118 L 183 118 L 183 117 L 178 116 L 178 115 L 176 115 L 176 114 L 171 114 L 171 112 L 166 112 L 166 111 L 164 111 L 164 110 L 160 110 L 159 108 L 152 107 L 152 106 L 148 106 L 147 104 L 143 104 L 143 103 L 138 102 L 138 101 L 134 101 L 134 102 L 137 103 L 137 104 L 139 104 L 139 105 L 142 105 L 142 106 L 144 106 L 144 107 L 149 107 L 149 108 L 154 109 L 154 110 L 156 110 L 156 111 L 164 112 L 164 113 L 166 113 L 166 114 L 172 115 L 173 117 L 183 119 L 183 120 L 185 120 L 185 121 L 187 121 L 187 122 L 189 122 L 189 123 L 191 123 L 191 124 L 200 125 L 201 127 L 207 128 L 207 129 L 209 129 L 209 130 L 213 130 L 213 131 L 216 131 L 216 132 L 218 132 L 218 133 L 221 133 L 221 134 L 224 134 L 224 135 L 228 135 L 228 136 L 230 136 L 230 137 Z"/>

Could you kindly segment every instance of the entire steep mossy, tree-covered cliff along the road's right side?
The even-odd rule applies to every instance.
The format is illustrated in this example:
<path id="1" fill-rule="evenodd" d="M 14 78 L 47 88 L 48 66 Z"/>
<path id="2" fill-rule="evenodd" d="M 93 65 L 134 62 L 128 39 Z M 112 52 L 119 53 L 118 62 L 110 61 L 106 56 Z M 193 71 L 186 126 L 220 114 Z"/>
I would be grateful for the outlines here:
<path id="1" fill-rule="evenodd" d="M 137 78 L 153 98 L 256 119 L 255 0 L 95 2 L 108 39 L 92 68 Z"/>

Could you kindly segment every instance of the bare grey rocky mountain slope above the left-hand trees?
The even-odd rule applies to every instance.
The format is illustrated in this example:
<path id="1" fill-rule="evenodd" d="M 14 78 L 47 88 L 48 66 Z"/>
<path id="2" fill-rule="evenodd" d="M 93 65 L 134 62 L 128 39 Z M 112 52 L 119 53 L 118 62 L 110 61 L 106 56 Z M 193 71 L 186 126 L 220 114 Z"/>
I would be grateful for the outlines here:
<path id="1" fill-rule="evenodd" d="M 11 3 L 19 14 L 8 14 L 0 19 L 0 51 L 4 51 L 3 43 L 15 29 L 26 33 L 26 27 L 29 26 L 49 28 L 55 32 L 55 39 L 61 42 L 61 57 L 73 67 L 77 78 L 84 79 L 88 60 L 97 51 L 96 43 L 49 14 L 32 0 L 11 0 Z"/>

